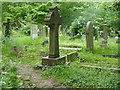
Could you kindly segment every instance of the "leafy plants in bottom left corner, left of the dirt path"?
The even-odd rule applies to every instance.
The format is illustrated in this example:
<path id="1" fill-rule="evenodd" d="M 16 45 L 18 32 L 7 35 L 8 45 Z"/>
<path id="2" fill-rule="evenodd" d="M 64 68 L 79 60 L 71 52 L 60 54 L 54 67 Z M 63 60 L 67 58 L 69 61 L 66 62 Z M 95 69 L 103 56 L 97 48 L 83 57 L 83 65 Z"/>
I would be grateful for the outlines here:
<path id="1" fill-rule="evenodd" d="M 9 58 L 4 57 L 4 61 L 1 63 L 0 67 L 0 87 L 1 88 L 23 88 L 23 82 L 19 79 L 17 75 L 17 68 L 11 66 L 8 61 Z"/>

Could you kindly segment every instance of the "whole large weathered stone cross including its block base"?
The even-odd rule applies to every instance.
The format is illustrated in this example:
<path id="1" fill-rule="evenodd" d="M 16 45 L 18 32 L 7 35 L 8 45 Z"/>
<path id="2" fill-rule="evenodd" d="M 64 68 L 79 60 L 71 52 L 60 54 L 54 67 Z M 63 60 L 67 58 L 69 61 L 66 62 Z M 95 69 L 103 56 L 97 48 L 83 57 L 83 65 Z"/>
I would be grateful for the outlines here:
<path id="1" fill-rule="evenodd" d="M 60 16 L 57 6 L 50 8 L 50 13 L 45 17 L 46 24 L 50 27 L 49 35 L 49 56 L 42 58 L 42 65 L 59 65 L 66 62 L 65 56 L 59 55 L 59 35 Z"/>

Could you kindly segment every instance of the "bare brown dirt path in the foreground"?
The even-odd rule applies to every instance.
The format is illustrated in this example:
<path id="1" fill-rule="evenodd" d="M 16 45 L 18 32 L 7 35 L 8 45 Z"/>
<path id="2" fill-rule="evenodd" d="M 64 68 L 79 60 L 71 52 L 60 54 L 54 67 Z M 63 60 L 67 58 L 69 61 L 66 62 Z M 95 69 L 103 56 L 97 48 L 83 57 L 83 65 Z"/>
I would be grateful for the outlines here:
<path id="1" fill-rule="evenodd" d="M 37 88 L 65 88 L 63 85 L 58 84 L 57 79 L 45 79 L 41 76 L 40 70 L 34 70 L 29 65 L 17 65 L 18 72 L 21 79 L 24 81 L 25 86 Z"/>

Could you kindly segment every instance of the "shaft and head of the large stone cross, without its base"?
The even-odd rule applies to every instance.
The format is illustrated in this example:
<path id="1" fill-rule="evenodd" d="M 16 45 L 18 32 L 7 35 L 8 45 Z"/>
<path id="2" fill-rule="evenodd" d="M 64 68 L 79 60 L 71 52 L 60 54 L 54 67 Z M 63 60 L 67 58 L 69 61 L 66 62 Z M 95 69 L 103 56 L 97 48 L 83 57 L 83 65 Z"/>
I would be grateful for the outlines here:
<path id="1" fill-rule="evenodd" d="M 50 8 L 50 14 L 45 17 L 46 24 L 50 27 L 49 32 L 49 58 L 59 57 L 59 37 L 58 29 L 60 25 L 60 16 L 58 8 L 53 6 Z"/>

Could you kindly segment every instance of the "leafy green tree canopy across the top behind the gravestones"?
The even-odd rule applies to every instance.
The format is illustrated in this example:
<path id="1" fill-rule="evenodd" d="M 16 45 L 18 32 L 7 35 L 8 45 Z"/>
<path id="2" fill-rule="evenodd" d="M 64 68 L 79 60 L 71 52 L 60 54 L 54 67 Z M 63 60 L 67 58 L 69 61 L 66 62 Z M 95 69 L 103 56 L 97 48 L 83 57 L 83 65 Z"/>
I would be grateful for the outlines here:
<path id="1" fill-rule="evenodd" d="M 45 24 L 44 17 L 53 5 L 59 8 L 63 27 L 67 25 L 72 33 L 84 33 L 87 21 L 92 21 L 96 31 L 101 31 L 103 24 L 108 24 L 109 32 L 118 30 L 119 2 L 3 2 L 2 21 L 10 18 L 16 30 Z"/>

